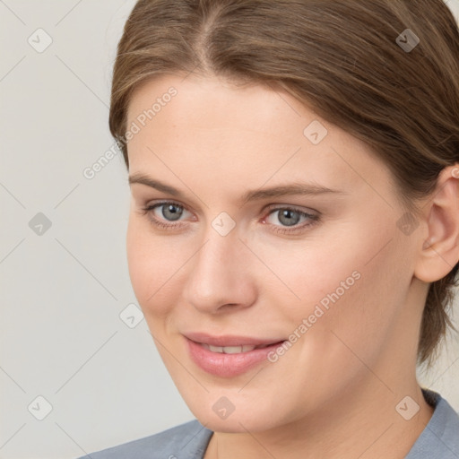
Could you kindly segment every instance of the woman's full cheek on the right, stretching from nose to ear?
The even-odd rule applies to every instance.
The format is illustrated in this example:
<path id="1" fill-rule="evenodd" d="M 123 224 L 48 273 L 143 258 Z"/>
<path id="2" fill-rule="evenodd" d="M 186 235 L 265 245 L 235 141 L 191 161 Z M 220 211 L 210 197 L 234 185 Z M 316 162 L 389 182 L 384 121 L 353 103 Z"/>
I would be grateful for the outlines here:
<path id="1" fill-rule="evenodd" d="M 365 223 L 336 231 L 327 244 L 285 246 L 277 256 L 266 249 L 266 264 L 295 294 L 285 300 L 285 286 L 275 289 L 293 329 L 310 318 L 311 331 L 335 330 L 354 346 L 384 340 L 410 286 L 411 255 L 390 222 Z"/>

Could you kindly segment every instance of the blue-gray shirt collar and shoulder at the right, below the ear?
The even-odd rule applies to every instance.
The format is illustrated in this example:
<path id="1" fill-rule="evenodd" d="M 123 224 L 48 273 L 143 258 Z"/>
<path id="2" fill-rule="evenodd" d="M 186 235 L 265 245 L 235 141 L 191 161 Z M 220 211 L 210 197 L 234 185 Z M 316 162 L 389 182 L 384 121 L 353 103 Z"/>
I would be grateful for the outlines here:
<path id="1" fill-rule="evenodd" d="M 405 459 L 457 459 L 459 415 L 440 394 L 428 389 L 422 389 L 422 393 L 426 401 L 434 407 L 434 413 Z"/>

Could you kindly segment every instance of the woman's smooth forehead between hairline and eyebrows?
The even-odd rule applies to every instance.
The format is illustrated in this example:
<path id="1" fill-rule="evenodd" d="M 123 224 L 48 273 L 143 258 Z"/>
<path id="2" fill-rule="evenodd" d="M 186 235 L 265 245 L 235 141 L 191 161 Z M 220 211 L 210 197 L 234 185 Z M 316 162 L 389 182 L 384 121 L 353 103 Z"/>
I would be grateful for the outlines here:
<path id="1" fill-rule="evenodd" d="M 133 172 L 160 169 L 192 181 L 212 174 L 222 187 L 303 180 L 356 189 L 388 178 L 366 143 L 287 92 L 261 84 L 162 76 L 134 91 L 127 127 L 134 125 Z"/>

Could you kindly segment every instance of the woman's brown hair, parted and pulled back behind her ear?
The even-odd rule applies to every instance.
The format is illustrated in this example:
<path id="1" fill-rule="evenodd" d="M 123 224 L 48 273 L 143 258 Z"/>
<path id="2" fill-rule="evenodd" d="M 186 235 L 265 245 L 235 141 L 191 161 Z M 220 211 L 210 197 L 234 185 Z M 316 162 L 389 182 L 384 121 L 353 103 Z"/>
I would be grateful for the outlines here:
<path id="1" fill-rule="evenodd" d="M 439 172 L 459 162 L 459 30 L 442 0 L 138 1 L 118 44 L 109 114 L 127 168 L 134 89 L 191 72 L 289 91 L 368 143 L 411 215 Z M 448 308 L 458 266 L 429 287 L 419 364 L 430 367 L 455 329 Z"/>

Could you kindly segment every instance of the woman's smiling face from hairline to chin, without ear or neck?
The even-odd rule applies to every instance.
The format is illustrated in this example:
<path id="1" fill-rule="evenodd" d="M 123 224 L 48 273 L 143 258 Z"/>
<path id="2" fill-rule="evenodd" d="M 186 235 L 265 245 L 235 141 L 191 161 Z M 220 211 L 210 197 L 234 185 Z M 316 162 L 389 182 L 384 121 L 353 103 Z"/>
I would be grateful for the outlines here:
<path id="1" fill-rule="evenodd" d="M 203 424 L 271 429 L 412 377 L 422 226 L 367 145 L 286 92 L 194 76 L 144 84 L 127 126 L 134 292 Z"/>

